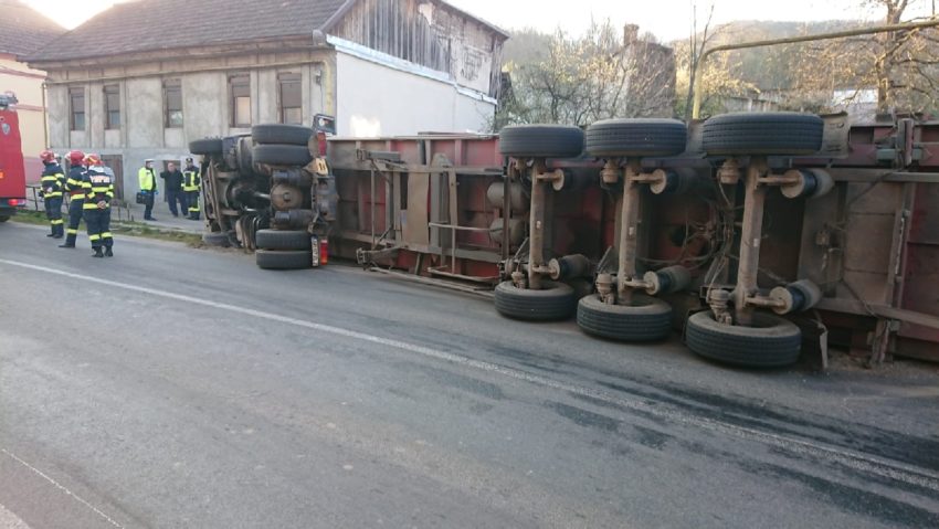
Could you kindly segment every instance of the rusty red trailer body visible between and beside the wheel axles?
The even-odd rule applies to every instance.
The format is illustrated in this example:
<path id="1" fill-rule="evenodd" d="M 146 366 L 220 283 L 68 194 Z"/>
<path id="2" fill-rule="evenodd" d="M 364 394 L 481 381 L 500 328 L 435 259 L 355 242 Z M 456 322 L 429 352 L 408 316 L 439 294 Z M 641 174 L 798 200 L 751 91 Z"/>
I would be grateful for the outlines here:
<path id="1" fill-rule="evenodd" d="M 716 165 L 695 154 L 694 136 L 689 152 L 645 165 L 714 179 Z M 833 341 L 868 349 L 873 337 L 883 351 L 939 360 L 939 124 L 854 126 L 842 144 L 824 159 L 791 160 L 829 168 L 834 192 L 816 200 L 769 194 L 760 286 L 810 278 L 824 290 L 817 308 Z M 335 138 L 328 158 L 339 194 L 334 253 L 341 256 L 490 285 L 528 229 L 527 191 L 504 178 L 495 136 Z M 601 187 L 600 162 L 549 165 L 568 172 L 566 189 L 549 194 L 549 253 L 599 261 L 616 241 L 621 198 Z M 705 263 L 695 258 L 709 254 L 707 192 L 644 200 L 644 263 L 684 262 L 699 285 Z M 694 230 L 703 236 L 692 237 Z M 673 299 L 695 301 L 694 293 Z"/>

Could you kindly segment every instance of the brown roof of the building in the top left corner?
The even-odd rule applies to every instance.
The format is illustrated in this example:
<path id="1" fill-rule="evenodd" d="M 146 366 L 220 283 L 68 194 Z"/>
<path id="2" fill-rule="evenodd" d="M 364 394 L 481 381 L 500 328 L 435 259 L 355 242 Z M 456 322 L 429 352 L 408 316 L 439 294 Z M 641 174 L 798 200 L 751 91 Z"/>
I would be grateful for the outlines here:
<path id="1" fill-rule="evenodd" d="M 29 55 L 63 33 L 65 28 L 19 0 L 0 0 L 0 53 Z"/>

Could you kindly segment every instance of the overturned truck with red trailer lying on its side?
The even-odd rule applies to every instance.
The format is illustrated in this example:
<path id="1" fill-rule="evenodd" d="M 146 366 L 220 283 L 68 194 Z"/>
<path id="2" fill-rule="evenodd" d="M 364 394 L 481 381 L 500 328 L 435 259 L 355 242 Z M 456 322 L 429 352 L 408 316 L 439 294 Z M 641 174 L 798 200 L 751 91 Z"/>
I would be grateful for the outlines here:
<path id="1" fill-rule="evenodd" d="M 264 268 L 331 254 L 492 292 L 515 320 L 678 331 L 735 366 L 829 342 L 939 361 L 939 123 L 751 113 L 328 141 L 261 125 L 190 148 L 205 241 Z"/>

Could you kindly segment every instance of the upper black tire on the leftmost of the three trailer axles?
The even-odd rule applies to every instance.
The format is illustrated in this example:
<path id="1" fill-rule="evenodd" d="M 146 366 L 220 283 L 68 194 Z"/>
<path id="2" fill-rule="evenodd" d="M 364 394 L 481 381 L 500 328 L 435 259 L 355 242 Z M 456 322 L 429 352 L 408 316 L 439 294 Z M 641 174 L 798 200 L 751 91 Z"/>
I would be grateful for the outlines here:
<path id="1" fill-rule="evenodd" d="M 499 152 L 524 158 L 574 158 L 583 151 L 583 131 L 563 125 L 511 125 L 499 131 Z"/>

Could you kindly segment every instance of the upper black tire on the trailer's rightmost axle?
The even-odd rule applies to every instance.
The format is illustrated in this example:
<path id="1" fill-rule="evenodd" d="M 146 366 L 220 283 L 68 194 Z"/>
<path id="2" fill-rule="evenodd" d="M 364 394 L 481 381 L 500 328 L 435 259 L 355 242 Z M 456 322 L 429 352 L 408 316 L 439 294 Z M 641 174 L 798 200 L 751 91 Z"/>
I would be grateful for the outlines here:
<path id="1" fill-rule="evenodd" d="M 701 146 L 713 156 L 812 155 L 822 148 L 824 128 L 814 114 L 724 114 L 705 121 Z"/>

